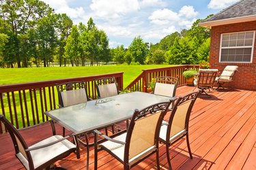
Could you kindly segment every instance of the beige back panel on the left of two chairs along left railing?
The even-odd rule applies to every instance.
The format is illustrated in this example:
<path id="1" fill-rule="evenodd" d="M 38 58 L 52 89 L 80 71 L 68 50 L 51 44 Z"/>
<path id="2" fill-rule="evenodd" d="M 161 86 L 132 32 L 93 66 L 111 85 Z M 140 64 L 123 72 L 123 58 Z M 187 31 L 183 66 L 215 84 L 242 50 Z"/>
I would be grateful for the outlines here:
<path id="1" fill-rule="evenodd" d="M 87 102 L 85 88 L 61 91 L 61 97 L 63 101 L 63 107 Z"/>

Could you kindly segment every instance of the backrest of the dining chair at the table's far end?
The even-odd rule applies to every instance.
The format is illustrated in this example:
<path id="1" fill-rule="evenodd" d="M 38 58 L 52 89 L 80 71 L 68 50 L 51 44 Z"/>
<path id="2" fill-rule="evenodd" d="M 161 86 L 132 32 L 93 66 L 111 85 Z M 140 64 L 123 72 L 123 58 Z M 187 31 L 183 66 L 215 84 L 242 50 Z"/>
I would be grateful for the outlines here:
<path id="1" fill-rule="evenodd" d="M 174 97 L 178 82 L 179 78 L 172 78 L 169 76 L 156 77 L 154 94 Z"/>

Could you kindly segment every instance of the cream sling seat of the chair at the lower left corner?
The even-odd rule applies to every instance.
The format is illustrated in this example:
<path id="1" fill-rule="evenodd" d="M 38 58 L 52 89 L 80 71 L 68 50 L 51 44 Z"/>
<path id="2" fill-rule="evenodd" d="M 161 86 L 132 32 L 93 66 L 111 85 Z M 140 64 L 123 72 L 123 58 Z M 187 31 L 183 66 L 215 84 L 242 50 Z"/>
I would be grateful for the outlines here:
<path id="1" fill-rule="evenodd" d="M 35 143 L 33 146 L 30 146 L 29 148 L 46 145 L 53 141 L 57 141 L 58 139 L 61 138 L 63 138 L 61 135 L 55 135 L 47 139 L 44 139 L 43 141 Z M 48 146 L 38 150 L 31 150 L 30 154 L 33 159 L 35 169 L 37 167 L 40 167 L 42 164 L 46 163 L 48 160 L 51 160 L 58 156 L 59 154 L 62 154 L 63 152 L 66 152 L 72 148 L 76 148 L 76 146 L 67 139 L 64 139 L 63 141 L 59 141 L 58 143 L 55 143 L 52 146 Z M 20 159 L 20 161 L 23 162 L 23 165 L 25 165 L 25 167 L 29 169 L 29 163 L 27 159 L 23 156 L 23 154 L 18 153 L 16 154 L 16 156 Z"/>

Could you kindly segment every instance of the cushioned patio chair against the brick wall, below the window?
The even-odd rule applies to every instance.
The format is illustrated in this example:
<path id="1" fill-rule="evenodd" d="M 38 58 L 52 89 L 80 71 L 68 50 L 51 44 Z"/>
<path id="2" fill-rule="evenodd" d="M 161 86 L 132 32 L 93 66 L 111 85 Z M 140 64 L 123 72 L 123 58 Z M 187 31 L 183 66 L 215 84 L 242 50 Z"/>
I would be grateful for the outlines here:
<path id="1" fill-rule="evenodd" d="M 238 66 L 227 65 L 221 73 L 220 77 L 216 78 L 216 82 L 218 84 L 218 88 L 216 88 L 216 90 L 220 88 L 223 88 L 224 90 L 223 84 L 231 82 L 236 71 L 238 71 Z"/>

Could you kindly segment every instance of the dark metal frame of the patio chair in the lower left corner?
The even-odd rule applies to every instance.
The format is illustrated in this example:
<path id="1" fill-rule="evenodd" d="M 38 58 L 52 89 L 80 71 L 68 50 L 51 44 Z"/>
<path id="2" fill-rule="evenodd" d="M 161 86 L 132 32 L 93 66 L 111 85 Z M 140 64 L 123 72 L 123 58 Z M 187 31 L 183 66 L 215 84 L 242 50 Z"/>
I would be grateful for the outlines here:
<path id="1" fill-rule="evenodd" d="M 54 141 L 52 143 L 48 143 L 48 144 L 45 144 L 43 146 L 38 146 L 38 147 L 34 147 L 34 148 L 29 148 L 27 146 L 27 143 L 25 142 L 25 140 L 23 139 L 23 137 L 20 135 L 20 133 L 18 132 L 18 130 L 3 116 L 3 115 L 0 115 L 0 121 L 3 122 L 3 124 L 5 125 L 5 129 L 8 130 L 8 132 L 10 133 L 10 136 L 12 138 L 12 142 L 14 144 L 14 149 L 15 149 L 15 154 L 16 154 L 16 158 L 18 158 L 18 160 L 20 160 L 19 156 L 17 154 L 20 153 L 20 150 L 18 148 L 18 142 L 16 140 L 16 137 L 18 138 L 18 140 L 20 141 L 20 144 L 22 145 L 22 147 L 25 149 L 25 154 L 27 156 L 27 161 L 29 163 L 29 169 L 35 169 L 34 168 L 34 165 L 33 165 L 33 159 L 32 159 L 32 156 L 30 154 L 30 151 L 31 150 L 38 150 L 40 148 L 45 148 L 45 147 L 48 147 L 48 146 L 51 146 L 55 143 L 58 143 L 60 141 L 63 141 L 63 140 L 66 140 L 68 137 L 70 136 L 67 136 L 67 137 L 63 137 L 61 139 L 58 139 L 57 141 Z M 33 126 L 30 126 L 30 128 L 33 128 Z M 25 129 L 28 129 L 28 128 L 25 128 Z M 20 129 L 20 130 L 23 130 L 23 129 Z M 19 130 L 19 131 L 20 131 Z M 15 137 L 16 136 L 16 137 Z M 74 143 L 76 143 L 76 148 L 72 148 L 70 150 L 67 150 L 66 152 L 63 152 L 63 154 L 60 154 L 59 156 L 56 156 L 55 158 L 49 160 L 48 162 L 40 165 L 40 167 L 36 168 L 36 169 L 43 169 L 43 168 L 46 168 L 46 169 L 50 169 L 50 166 L 55 163 L 57 160 L 60 160 L 62 158 L 66 158 L 68 155 L 70 155 L 72 152 L 74 152 L 76 154 L 76 158 L 80 158 L 80 150 L 79 150 L 79 141 L 78 139 L 76 138 L 76 135 L 72 135 L 73 139 L 74 139 Z M 54 152 L 54 151 L 53 151 Z M 23 164 L 23 162 L 20 160 L 20 163 Z M 25 167 L 25 165 L 23 164 L 23 166 Z"/>

